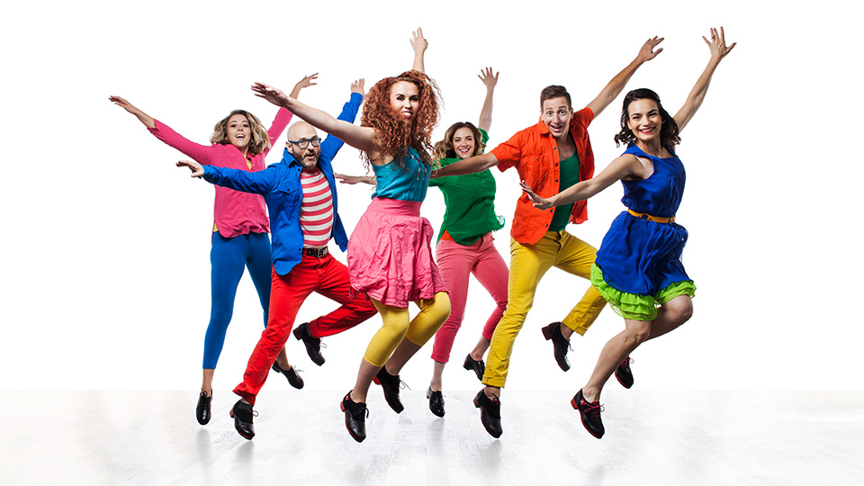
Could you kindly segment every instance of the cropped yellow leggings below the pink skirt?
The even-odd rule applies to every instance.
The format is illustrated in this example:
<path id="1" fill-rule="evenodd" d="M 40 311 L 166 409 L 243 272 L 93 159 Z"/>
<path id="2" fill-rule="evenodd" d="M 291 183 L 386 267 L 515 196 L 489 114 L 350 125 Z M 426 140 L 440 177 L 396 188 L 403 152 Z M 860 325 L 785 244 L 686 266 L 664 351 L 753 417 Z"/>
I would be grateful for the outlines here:
<path id="1" fill-rule="evenodd" d="M 415 301 L 420 312 L 413 320 L 410 320 L 408 308 L 393 307 L 374 299 L 372 303 L 384 324 L 369 342 L 363 357 L 370 365 L 379 368 L 387 363 L 403 338 L 422 347 L 450 316 L 450 296 L 446 292 L 436 293 L 431 299 Z"/>

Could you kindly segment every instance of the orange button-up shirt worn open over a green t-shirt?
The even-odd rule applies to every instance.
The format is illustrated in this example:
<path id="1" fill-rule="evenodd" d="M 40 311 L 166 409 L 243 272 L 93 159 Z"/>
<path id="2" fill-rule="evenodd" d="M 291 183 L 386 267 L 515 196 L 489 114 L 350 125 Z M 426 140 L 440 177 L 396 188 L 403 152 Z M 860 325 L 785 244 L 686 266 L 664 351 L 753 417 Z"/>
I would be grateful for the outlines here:
<path id="1" fill-rule="evenodd" d="M 591 140 L 588 137 L 588 125 L 592 120 L 594 113 L 589 108 L 582 108 L 573 113 L 570 121 L 570 134 L 576 142 L 576 153 L 579 156 L 581 181 L 594 176 L 594 152 L 591 151 Z M 538 195 L 552 197 L 561 192 L 558 182 L 561 179 L 558 144 L 543 120 L 518 131 L 491 153 L 498 159 L 498 168 L 501 171 L 515 166 L 519 178 L 530 185 Z M 587 208 L 585 201 L 573 204 L 571 222 L 581 223 L 588 220 Z M 553 214 L 554 208 L 545 211 L 537 209 L 531 198 L 522 193 L 516 204 L 510 236 L 523 245 L 534 245 L 549 230 Z"/>

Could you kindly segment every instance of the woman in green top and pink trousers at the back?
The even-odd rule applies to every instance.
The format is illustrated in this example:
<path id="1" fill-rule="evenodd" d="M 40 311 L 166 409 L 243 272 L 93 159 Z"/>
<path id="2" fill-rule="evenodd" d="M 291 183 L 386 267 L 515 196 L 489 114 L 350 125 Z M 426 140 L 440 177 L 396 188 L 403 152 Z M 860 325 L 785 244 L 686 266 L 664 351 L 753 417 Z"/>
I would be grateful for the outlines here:
<path id="1" fill-rule="evenodd" d="M 492 94 L 498 83 L 498 73 L 492 76 L 492 68 L 487 67 L 482 69 L 478 77 L 486 85 L 479 128 L 467 121 L 460 121 L 448 128 L 444 139 L 435 144 L 433 152 L 433 158 L 441 166 L 480 155 L 486 147 L 489 139 L 486 130 L 492 124 Z M 336 178 L 346 184 L 374 184 L 373 177 L 337 174 Z M 435 256 L 450 292 L 450 317 L 435 335 L 432 347 L 435 365 L 427 392 L 429 410 L 438 417 L 444 417 L 441 376 L 450 360 L 456 332 L 462 326 L 468 298 L 468 276 L 473 274 L 496 303 L 495 310 L 483 326 L 480 340 L 471 353 L 465 356 L 464 368 L 473 371 L 477 379 L 482 380 L 486 370 L 483 355 L 489 349 L 492 332 L 507 308 L 509 272 L 492 238 L 492 231 L 501 229 L 504 219 L 495 214 L 495 178 L 489 169 L 477 174 L 432 179 L 429 186 L 441 189 L 446 204 Z"/>

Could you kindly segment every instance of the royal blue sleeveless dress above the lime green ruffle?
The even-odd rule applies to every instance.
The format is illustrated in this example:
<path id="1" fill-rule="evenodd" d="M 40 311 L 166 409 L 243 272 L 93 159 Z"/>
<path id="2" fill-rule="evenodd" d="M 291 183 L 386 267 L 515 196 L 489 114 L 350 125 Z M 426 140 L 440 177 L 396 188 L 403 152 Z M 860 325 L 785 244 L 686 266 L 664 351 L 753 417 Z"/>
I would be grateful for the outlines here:
<path id="1" fill-rule="evenodd" d="M 680 158 L 674 154 L 668 158 L 654 157 L 635 145 L 630 145 L 624 153 L 650 158 L 654 172 L 647 179 L 621 181 L 624 184 L 621 202 L 636 212 L 662 218 L 674 216 L 686 179 Z M 595 263 L 602 271 L 602 280 L 618 292 L 647 296 L 652 303 L 657 296 L 659 302 L 656 303 L 662 303 L 675 296 L 662 298 L 658 295 L 671 284 L 689 283 L 687 286 L 691 290 L 677 295 L 689 293 L 692 296 L 696 289 L 681 264 L 681 252 L 686 243 L 687 229 L 680 224 L 644 220 L 623 211 L 612 221 Z"/>

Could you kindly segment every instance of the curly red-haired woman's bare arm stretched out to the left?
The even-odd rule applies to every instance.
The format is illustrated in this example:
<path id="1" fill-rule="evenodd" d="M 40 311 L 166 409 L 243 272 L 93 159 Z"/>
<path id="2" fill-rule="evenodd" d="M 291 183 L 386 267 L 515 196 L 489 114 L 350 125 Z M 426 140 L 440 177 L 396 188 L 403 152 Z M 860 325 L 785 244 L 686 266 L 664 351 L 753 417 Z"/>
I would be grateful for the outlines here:
<path id="1" fill-rule="evenodd" d="M 256 83 L 252 85 L 252 91 L 255 92 L 256 96 L 293 112 L 304 121 L 309 122 L 313 127 L 336 135 L 351 147 L 359 148 L 365 152 L 377 148 L 375 144 L 375 130 L 372 127 L 359 127 L 354 123 L 337 120 L 327 112 L 322 112 L 317 108 L 312 108 L 301 103 L 296 98 L 287 96 L 282 90 L 271 85 Z"/>

